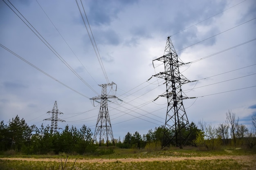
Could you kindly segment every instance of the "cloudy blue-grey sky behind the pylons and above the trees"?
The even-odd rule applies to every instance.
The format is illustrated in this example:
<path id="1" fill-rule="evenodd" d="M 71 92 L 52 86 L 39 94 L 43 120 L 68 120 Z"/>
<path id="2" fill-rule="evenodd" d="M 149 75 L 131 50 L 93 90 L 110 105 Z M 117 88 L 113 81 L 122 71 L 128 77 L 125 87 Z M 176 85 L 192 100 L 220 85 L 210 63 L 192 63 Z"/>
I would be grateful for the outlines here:
<path id="1" fill-rule="evenodd" d="M 191 62 L 180 72 L 198 80 L 182 86 L 184 95 L 197 97 L 184 100 L 189 121 L 217 127 L 231 110 L 239 123 L 252 127 L 256 1 L 77 2 L 79 7 L 75 0 L 0 2 L 0 119 L 5 124 L 18 115 L 29 126 L 50 125 L 44 119 L 57 101 L 59 118 L 65 120 L 59 127 L 85 124 L 94 132 L 99 104 L 94 107 L 90 98 L 101 95 L 99 84 L 115 82 L 116 93 L 108 88 L 108 94 L 123 102 L 108 102 L 114 138 L 164 125 L 167 99 L 153 100 L 166 86 L 150 77 L 164 71 L 152 61 L 164 54 L 171 36 L 180 60 Z"/>

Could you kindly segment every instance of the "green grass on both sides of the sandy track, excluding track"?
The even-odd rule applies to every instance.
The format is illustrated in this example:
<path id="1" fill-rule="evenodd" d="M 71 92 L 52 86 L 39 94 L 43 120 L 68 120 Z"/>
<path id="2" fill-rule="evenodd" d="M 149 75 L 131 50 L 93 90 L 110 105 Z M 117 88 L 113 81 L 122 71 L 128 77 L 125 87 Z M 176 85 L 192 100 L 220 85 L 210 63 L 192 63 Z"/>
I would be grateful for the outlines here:
<path id="1" fill-rule="evenodd" d="M 114 152 L 108 152 L 111 149 Z M 202 151 L 199 148 L 184 147 L 164 148 L 153 152 L 147 150 L 121 149 L 117 147 L 101 147 L 99 150 L 107 150 L 102 153 L 106 155 L 69 155 L 65 170 L 71 170 L 74 159 L 114 159 L 111 163 L 81 163 L 76 162 L 73 170 L 255 170 L 255 161 L 234 160 L 234 159 L 214 159 L 214 160 L 192 160 L 190 157 L 214 157 L 214 156 L 237 156 L 249 155 L 256 157 L 256 150 L 244 148 L 222 148 L 220 150 Z M 111 153 L 111 154 L 109 154 Z M 0 155 L 0 157 L 23 157 L 23 158 L 57 158 L 57 162 L 46 161 L 17 161 L 0 160 L 0 170 L 61 170 L 61 163 L 65 161 L 67 154 L 59 155 Z M 121 158 L 158 158 L 158 157 L 183 157 L 182 161 L 147 161 L 147 162 L 122 162 L 115 159 Z M 252 159 L 253 160 L 253 159 Z"/>

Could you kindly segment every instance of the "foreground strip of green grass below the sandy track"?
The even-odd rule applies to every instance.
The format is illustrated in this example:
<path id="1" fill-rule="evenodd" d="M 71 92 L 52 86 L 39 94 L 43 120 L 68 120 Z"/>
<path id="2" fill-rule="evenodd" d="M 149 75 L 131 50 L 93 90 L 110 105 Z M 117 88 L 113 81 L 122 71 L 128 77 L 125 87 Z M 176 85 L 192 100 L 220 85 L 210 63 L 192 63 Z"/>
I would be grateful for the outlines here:
<path id="1" fill-rule="evenodd" d="M 30 162 L 0 160 L 1 170 L 58 170 L 58 162 Z M 68 162 L 65 170 L 72 169 L 72 162 Z M 232 159 L 217 160 L 184 160 L 184 161 L 153 161 L 113 163 L 76 163 L 73 170 L 254 170 L 253 164 L 239 163 Z"/>

